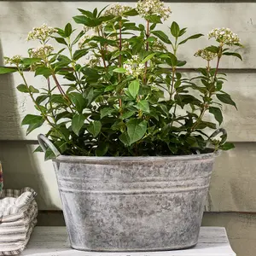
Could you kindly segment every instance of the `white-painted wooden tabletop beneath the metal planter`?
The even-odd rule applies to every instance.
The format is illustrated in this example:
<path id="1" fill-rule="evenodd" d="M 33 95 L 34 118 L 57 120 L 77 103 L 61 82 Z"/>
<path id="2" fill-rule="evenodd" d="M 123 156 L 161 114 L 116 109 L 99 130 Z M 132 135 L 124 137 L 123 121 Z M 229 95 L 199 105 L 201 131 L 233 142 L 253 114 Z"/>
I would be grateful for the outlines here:
<path id="1" fill-rule="evenodd" d="M 36 227 L 21 256 L 236 256 L 226 231 L 221 227 L 201 227 L 198 244 L 190 249 L 147 253 L 96 253 L 68 247 L 65 227 Z"/>

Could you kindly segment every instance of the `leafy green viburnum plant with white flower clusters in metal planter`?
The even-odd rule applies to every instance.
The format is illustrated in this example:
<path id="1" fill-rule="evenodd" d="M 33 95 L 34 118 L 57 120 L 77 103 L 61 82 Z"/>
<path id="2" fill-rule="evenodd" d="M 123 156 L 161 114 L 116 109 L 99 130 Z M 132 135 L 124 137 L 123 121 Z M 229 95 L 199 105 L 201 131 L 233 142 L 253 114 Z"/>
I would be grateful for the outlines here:
<path id="1" fill-rule="evenodd" d="M 38 114 L 27 114 L 22 125 L 27 134 L 44 123 L 47 137 L 61 154 L 86 156 L 177 155 L 230 149 L 226 135 L 216 140 L 208 130 L 223 122 L 222 105 L 236 108 L 223 90 L 224 73 L 220 60 L 241 55 L 230 50 L 241 47 L 240 39 L 228 28 L 214 29 L 209 39 L 215 44 L 200 49 L 195 56 L 206 60 L 193 78 L 179 72 L 186 61 L 178 59 L 178 49 L 201 33 L 186 37 L 187 28 L 166 21 L 170 32 L 158 26 L 169 19 L 171 10 L 160 0 L 143 0 L 132 9 L 114 4 L 100 12 L 79 9 L 65 28 L 46 25 L 29 32 L 37 49 L 28 57 L 5 58 L 14 68 L 0 73 L 20 73 L 17 89 L 32 98 Z M 141 16 L 143 24 L 132 22 Z M 63 45 L 55 50 L 50 41 Z M 190 47 L 190 46 L 189 46 Z M 212 60 L 217 66 L 211 67 Z M 45 87 L 28 84 L 26 71 L 44 76 Z M 209 121 L 209 115 L 216 119 Z M 39 148 L 38 148 L 39 150 Z M 52 157 L 50 149 L 46 158 Z"/>

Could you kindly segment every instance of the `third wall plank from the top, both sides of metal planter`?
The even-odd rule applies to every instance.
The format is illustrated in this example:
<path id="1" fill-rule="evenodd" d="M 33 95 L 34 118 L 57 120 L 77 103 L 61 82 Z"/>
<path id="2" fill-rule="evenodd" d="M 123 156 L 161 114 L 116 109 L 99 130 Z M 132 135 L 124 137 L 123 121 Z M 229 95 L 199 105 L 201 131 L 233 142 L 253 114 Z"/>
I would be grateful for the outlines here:
<path id="1" fill-rule="evenodd" d="M 36 145 L 1 142 L 5 188 L 30 186 L 38 192 L 40 210 L 61 209 L 61 200 L 51 161 L 44 154 L 32 154 Z M 256 212 L 256 144 L 236 143 L 236 148 L 216 159 L 207 211 Z"/>

